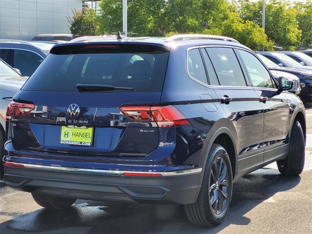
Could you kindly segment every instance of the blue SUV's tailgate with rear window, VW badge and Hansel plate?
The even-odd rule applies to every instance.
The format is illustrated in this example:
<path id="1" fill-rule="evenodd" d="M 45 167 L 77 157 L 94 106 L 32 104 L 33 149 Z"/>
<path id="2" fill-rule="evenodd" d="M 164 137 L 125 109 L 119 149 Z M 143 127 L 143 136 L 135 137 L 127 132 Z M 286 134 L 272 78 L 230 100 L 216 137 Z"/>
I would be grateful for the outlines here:
<path id="1" fill-rule="evenodd" d="M 151 153 L 159 142 L 156 123 L 144 122 L 139 111 L 128 111 L 127 118 L 120 107 L 159 103 L 168 56 L 167 49 L 142 45 L 51 51 L 14 98 L 35 105 L 26 117 L 14 118 L 14 148 L 93 156 Z M 77 84 L 133 90 L 78 91 Z"/>

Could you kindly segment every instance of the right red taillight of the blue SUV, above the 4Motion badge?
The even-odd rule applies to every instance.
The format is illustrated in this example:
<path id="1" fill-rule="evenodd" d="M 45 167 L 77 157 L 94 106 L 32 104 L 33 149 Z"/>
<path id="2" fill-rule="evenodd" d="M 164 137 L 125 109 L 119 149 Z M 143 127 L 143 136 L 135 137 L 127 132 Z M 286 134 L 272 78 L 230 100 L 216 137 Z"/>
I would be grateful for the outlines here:
<path id="1" fill-rule="evenodd" d="M 121 112 L 133 122 L 156 122 L 158 127 L 190 125 L 176 107 L 169 106 L 123 106 Z"/>

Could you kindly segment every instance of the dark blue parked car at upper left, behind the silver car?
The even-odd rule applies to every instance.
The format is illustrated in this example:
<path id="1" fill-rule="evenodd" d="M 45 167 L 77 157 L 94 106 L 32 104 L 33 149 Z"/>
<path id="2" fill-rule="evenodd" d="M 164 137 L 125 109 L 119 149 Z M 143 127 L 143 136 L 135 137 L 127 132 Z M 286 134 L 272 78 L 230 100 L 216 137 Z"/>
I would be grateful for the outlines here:
<path id="1" fill-rule="evenodd" d="M 51 44 L 50 48 L 53 45 Z M 36 43 L 22 40 L 0 40 L 0 59 L 20 70 L 23 76 L 30 76 L 47 55 Z M 41 47 L 42 48 L 42 47 Z"/>

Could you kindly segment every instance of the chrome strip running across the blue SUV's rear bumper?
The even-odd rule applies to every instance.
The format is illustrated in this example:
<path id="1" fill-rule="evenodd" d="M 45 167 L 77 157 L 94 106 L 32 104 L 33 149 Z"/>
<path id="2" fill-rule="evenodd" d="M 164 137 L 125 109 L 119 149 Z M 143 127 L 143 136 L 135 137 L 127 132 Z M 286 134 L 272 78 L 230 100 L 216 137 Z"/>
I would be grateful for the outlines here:
<path id="1" fill-rule="evenodd" d="M 3 161 L 5 163 L 7 161 Z M 54 170 L 54 171 L 67 171 L 67 172 L 91 172 L 98 174 L 107 174 L 107 175 L 116 175 L 122 176 L 123 173 L 149 173 L 149 174 L 161 174 L 162 176 L 183 176 L 195 173 L 201 173 L 202 168 L 189 169 L 184 171 L 174 171 L 174 172 L 150 172 L 150 171 L 118 171 L 118 170 L 97 170 L 97 169 L 86 169 L 86 168 L 71 168 L 71 167 L 57 167 L 57 166 L 45 166 L 37 164 L 27 164 L 27 163 L 16 163 L 16 162 L 7 162 L 10 164 L 24 166 L 24 168 L 31 169 L 44 169 L 44 170 Z"/>

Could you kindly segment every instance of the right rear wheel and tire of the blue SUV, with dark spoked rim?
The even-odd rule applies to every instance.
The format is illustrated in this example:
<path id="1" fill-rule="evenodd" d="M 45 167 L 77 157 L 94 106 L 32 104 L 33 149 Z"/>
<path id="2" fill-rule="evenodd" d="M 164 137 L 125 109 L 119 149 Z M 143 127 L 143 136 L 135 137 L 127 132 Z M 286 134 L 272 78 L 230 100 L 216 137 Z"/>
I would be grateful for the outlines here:
<path id="1" fill-rule="evenodd" d="M 216 165 L 218 165 L 219 168 L 221 165 L 219 176 L 213 176 L 213 174 L 217 174 Z M 226 167 L 222 167 L 222 165 Z M 225 172 L 224 168 L 226 169 Z M 218 177 L 218 179 L 214 180 L 214 177 Z M 228 153 L 223 146 L 213 144 L 208 155 L 197 200 L 193 204 L 184 205 L 185 213 L 190 222 L 199 226 L 219 225 L 229 211 L 232 199 L 232 188 L 232 167 Z M 222 197 L 220 191 L 223 191 L 223 194 L 227 195 L 226 199 Z M 216 198 L 216 200 L 214 198 Z M 220 202 L 221 198 L 222 202 Z M 221 208 L 220 205 L 222 209 L 219 209 Z"/>

